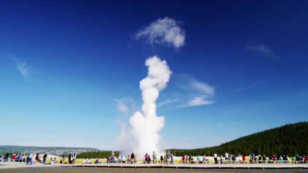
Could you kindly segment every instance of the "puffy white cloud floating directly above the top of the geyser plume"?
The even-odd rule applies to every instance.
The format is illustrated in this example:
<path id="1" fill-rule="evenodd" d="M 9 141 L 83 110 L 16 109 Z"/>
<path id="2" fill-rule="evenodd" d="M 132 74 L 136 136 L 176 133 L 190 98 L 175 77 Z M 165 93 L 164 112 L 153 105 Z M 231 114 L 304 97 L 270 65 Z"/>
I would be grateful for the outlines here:
<path id="1" fill-rule="evenodd" d="M 184 46 L 185 42 L 185 31 L 180 28 L 178 21 L 169 17 L 159 18 L 150 23 L 140 29 L 135 36 L 137 39 L 145 38 L 150 45 L 167 44 L 176 49 Z"/>

